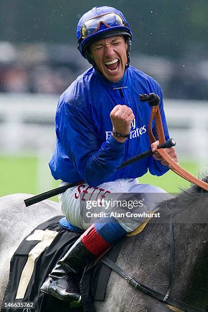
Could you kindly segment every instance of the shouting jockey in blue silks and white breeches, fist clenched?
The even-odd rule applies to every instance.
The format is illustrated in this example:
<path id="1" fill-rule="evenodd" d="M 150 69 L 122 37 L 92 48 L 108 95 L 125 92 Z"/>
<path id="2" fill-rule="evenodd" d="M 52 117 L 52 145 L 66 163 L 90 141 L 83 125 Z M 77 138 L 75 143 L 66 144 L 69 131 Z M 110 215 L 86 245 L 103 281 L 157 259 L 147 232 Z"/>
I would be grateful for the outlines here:
<path id="1" fill-rule="evenodd" d="M 80 18 L 76 37 L 81 55 L 92 67 L 60 97 L 55 119 L 57 143 L 49 166 L 53 177 L 62 180 L 61 186 L 81 181 L 62 193 L 60 202 L 66 219 L 85 232 L 41 287 L 42 292 L 69 302 L 81 300 L 76 273 L 145 220 L 136 214 L 129 218 L 129 207 L 118 209 L 118 201 L 114 205 L 112 198 L 127 200 L 127 204 L 134 199 L 140 202 L 134 212 L 145 213 L 152 208 L 145 194 L 160 196 L 165 191 L 140 184 L 137 177 L 148 170 L 157 176 L 169 170 L 155 152 L 159 141 L 150 146 L 150 107 L 139 101 L 141 93 L 160 96 L 165 138 L 169 139 L 162 89 L 150 76 L 129 65 L 132 32 L 123 14 L 112 7 L 94 7 Z M 154 124 L 152 131 L 157 136 Z M 149 147 L 153 155 L 116 170 L 122 161 Z M 175 149 L 166 151 L 177 162 Z M 144 205 L 138 200 L 141 198 L 146 199 Z M 110 214 L 115 206 L 117 213 Z"/>

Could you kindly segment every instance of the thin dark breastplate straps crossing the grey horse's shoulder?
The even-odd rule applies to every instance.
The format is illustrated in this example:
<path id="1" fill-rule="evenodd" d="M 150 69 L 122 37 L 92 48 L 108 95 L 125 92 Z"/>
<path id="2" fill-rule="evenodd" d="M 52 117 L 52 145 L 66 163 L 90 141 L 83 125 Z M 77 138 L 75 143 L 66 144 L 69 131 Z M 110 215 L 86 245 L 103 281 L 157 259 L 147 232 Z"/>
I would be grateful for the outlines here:
<path id="1" fill-rule="evenodd" d="M 169 283 L 168 283 L 168 289 L 166 292 L 166 295 L 163 295 L 157 291 L 152 290 L 151 288 L 143 285 L 139 281 L 137 281 L 134 277 L 129 276 L 127 273 L 123 271 L 122 268 L 120 268 L 118 265 L 116 265 L 113 261 L 111 261 L 108 257 L 102 256 L 102 258 L 99 259 L 100 262 L 105 264 L 107 267 L 111 268 L 115 272 L 117 272 L 121 277 L 124 278 L 126 282 L 133 285 L 136 289 L 140 290 L 141 292 L 145 293 L 146 295 L 153 297 L 159 301 L 162 301 L 164 303 L 167 303 L 171 306 L 174 306 L 176 308 L 179 308 L 186 312 L 205 312 L 205 309 L 195 307 L 192 305 L 189 305 L 185 302 L 176 300 L 175 298 L 172 298 L 169 296 L 171 285 L 172 285 L 172 278 L 174 273 L 174 237 L 173 237 L 173 217 L 171 215 L 170 221 L 169 221 L 169 233 L 170 233 L 170 274 L 169 274 Z"/>

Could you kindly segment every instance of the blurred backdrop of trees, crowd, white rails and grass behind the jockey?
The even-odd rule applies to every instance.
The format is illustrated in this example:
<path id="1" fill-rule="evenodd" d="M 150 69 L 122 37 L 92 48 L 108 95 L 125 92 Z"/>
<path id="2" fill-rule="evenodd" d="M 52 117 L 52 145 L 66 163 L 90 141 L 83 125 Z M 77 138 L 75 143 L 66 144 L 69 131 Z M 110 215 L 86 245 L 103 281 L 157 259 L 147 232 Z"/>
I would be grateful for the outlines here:
<path id="1" fill-rule="evenodd" d="M 179 163 L 207 173 L 208 2 L 206 0 L 2 0 L 0 3 L 0 196 L 59 185 L 48 160 L 60 94 L 90 65 L 77 50 L 76 25 L 94 6 L 123 12 L 133 31 L 131 65 L 164 92 Z M 138 163 L 139 165 L 139 163 Z M 177 192 L 172 172 L 140 181 Z"/>

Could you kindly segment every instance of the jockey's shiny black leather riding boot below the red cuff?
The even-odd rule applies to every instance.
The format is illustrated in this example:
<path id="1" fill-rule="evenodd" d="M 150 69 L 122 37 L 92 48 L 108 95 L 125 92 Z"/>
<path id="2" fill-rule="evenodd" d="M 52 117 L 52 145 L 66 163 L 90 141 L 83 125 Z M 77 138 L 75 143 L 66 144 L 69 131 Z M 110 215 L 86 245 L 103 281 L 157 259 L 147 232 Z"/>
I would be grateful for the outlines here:
<path id="1" fill-rule="evenodd" d="M 65 301 L 80 303 L 81 295 L 76 274 L 81 272 L 87 260 L 95 257 L 78 239 L 57 263 L 43 283 L 41 292 Z"/>

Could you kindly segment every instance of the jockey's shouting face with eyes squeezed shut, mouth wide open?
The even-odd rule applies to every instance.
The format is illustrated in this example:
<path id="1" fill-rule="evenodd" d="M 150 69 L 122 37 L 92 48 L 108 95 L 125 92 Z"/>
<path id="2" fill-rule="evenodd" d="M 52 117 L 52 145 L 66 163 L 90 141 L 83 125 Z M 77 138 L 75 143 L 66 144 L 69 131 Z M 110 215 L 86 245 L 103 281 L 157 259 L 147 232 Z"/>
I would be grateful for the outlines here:
<path id="1" fill-rule="evenodd" d="M 101 73 L 111 82 L 118 82 L 127 63 L 127 43 L 123 36 L 113 36 L 94 42 L 91 56 Z"/>

